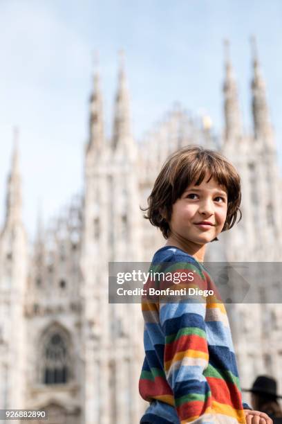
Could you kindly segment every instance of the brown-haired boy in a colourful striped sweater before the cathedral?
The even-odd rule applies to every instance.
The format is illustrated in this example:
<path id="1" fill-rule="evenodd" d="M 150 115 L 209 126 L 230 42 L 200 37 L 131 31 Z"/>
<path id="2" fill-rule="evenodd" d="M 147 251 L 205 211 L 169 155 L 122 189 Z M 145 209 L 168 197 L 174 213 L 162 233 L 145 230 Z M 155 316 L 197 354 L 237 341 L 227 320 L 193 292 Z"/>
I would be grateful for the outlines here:
<path id="1" fill-rule="evenodd" d="M 234 166 L 200 146 L 178 150 L 160 170 L 148 203 L 145 218 L 167 239 L 152 266 L 193 269 L 196 286 L 215 288 L 203 260 L 207 243 L 231 229 L 241 214 L 241 179 Z M 246 404 L 243 409 L 223 303 L 206 297 L 200 303 L 152 303 L 143 297 L 142 313 L 145 359 L 139 390 L 150 405 L 140 424 L 272 423 Z"/>

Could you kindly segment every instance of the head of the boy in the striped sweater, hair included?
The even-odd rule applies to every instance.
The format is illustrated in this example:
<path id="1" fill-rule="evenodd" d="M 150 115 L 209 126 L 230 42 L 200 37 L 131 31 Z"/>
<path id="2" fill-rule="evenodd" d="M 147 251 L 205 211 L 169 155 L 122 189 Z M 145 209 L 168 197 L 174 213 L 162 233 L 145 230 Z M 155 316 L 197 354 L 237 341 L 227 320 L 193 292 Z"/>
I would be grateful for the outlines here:
<path id="1" fill-rule="evenodd" d="M 205 245 L 233 227 L 240 203 L 241 179 L 234 166 L 218 152 L 190 145 L 164 163 L 143 211 L 164 238 Z M 212 225 L 200 226 L 203 221 Z"/>

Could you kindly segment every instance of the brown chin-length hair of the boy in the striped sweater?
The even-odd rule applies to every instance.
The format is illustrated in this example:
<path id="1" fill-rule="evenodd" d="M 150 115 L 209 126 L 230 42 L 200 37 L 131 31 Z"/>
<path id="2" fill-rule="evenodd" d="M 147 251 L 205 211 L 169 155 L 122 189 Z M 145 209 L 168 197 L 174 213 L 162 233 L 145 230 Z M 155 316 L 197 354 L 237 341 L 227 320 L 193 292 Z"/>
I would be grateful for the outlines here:
<path id="1" fill-rule="evenodd" d="M 238 212 L 240 222 L 241 178 L 236 169 L 222 154 L 200 145 L 189 145 L 177 150 L 167 159 L 148 197 L 149 206 L 141 208 L 142 211 L 147 211 L 144 218 L 160 228 L 164 238 L 169 237 L 168 221 L 171 220 L 172 205 L 187 186 L 194 181 L 196 186 L 200 185 L 207 174 L 211 174 L 218 184 L 227 189 L 227 216 L 222 231 L 233 227 Z"/>

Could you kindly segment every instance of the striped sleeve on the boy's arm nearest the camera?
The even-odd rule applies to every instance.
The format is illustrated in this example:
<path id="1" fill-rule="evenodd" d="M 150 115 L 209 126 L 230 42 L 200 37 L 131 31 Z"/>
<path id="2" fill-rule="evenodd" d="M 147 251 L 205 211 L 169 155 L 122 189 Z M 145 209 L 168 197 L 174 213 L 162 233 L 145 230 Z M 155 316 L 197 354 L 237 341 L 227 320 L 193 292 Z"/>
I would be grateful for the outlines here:
<path id="1" fill-rule="evenodd" d="M 194 281 L 181 284 L 181 287 L 203 289 L 205 276 L 194 258 L 191 257 L 191 263 L 187 258 L 186 263 L 181 262 L 178 266 L 173 263 L 174 273 L 191 271 Z M 214 423 L 211 389 L 203 375 L 209 364 L 205 312 L 205 300 L 160 303 L 160 325 L 165 337 L 164 371 L 181 424 L 194 420 L 196 423 Z"/>

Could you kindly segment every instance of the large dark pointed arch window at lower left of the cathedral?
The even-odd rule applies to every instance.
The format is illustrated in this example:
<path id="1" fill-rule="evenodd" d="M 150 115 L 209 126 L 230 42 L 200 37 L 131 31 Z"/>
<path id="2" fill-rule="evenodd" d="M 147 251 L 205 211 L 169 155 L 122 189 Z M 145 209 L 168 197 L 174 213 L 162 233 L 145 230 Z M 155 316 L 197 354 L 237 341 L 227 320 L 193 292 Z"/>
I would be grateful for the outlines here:
<path id="1" fill-rule="evenodd" d="M 66 384 L 70 380 L 69 346 L 59 330 L 48 333 L 43 346 L 41 378 L 45 385 Z"/>

